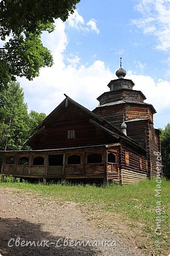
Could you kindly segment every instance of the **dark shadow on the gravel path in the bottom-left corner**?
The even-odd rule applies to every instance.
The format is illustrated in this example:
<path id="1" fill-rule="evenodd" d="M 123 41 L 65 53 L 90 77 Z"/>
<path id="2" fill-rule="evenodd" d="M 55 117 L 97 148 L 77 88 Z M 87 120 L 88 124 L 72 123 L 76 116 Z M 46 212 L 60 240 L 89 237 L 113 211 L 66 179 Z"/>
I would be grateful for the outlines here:
<path id="1" fill-rule="evenodd" d="M 20 237 L 20 243 L 16 239 Z M 64 237 L 52 236 L 50 233 L 41 230 L 41 225 L 31 223 L 21 219 L 0 219 L 0 255 L 3 256 L 20 256 L 20 255 L 41 255 L 41 256 L 80 256 L 80 255 L 96 255 L 93 247 L 78 245 L 64 246 Z M 11 241 L 10 241 L 11 240 Z M 10 243 L 9 243 L 10 241 Z M 47 245 L 42 246 L 21 246 L 22 241 L 35 241 L 35 244 L 41 241 L 49 241 Z M 62 242 L 63 241 L 63 242 Z M 16 244 L 15 244 L 16 242 Z M 56 242 L 60 247 L 56 246 Z M 69 240 L 71 242 L 71 240 Z M 81 242 L 81 241 L 80 241 Z M 55 244 L 50 244 L 55 243 Z M 86 243 L 86 242 L 85 242 Z M 9 247 L 8 244 L 12 247 Z M 20 245 L 19 245 L 20 244 Z M 19 246 L 16 246 L 19 245 Z"/>

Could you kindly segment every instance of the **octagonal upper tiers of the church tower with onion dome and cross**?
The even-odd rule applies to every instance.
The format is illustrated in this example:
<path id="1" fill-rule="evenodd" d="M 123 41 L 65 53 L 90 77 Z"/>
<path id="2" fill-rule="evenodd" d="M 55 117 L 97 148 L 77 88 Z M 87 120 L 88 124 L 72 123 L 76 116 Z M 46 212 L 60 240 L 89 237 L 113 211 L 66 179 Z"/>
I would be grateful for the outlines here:
<path id="1" fill-rule="evenodd" d="M 99 106 L 94 109 L 94 113 L 120 130 L 123 119 L 125 123 L 146 119 L 153 123 L 153 114 L 156 110 L 151 104 L 144 102 L 146 97 L 141 91 L 133 90 L 133 81 L 125 78 L 126 70 L 122 68 L 122 58 L 116 76 L 118 79 L 112 80 L 107 85 L 110 91 L 104 92 L 97 98 Z"/>

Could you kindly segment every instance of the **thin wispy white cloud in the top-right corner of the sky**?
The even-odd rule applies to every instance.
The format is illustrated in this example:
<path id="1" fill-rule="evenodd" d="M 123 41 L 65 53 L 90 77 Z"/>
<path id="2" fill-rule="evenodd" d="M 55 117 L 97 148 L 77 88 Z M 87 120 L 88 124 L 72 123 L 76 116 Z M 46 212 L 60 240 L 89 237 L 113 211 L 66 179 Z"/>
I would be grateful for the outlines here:
<path id="1" fill-rule="evenodd" d="M 170 0 L 137 0 L 136 10 L 142 18 L 132 20 L 143 33 L 157 38 L 156 48 L 167 51 L 170 47 Z"/>

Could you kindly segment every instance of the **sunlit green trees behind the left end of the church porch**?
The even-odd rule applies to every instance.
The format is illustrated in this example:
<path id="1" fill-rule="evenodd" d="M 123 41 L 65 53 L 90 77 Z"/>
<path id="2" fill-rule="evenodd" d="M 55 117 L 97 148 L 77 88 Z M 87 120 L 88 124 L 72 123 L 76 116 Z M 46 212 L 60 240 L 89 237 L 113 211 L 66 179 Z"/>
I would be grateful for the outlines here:
<path id="1" fill-rule="evenodd" d="M 0 94 L 0 106 L 0 150 L 20 150 L 46 115 L 36 111 L 28 114 L 23 90 L 16 82 Z"/>

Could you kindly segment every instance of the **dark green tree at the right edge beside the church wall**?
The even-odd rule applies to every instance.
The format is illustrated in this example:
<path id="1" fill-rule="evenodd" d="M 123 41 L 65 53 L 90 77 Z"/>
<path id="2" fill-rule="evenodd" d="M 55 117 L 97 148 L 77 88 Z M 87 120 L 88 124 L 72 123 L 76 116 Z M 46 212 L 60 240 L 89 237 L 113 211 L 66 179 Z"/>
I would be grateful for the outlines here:
<path id="1" fill-rule="evenodd" d="M 165 130 L 160 129 L 160 140 L 162 144 L 163 173 L 170 179 L 170 123 L 165 126 Z"/>

